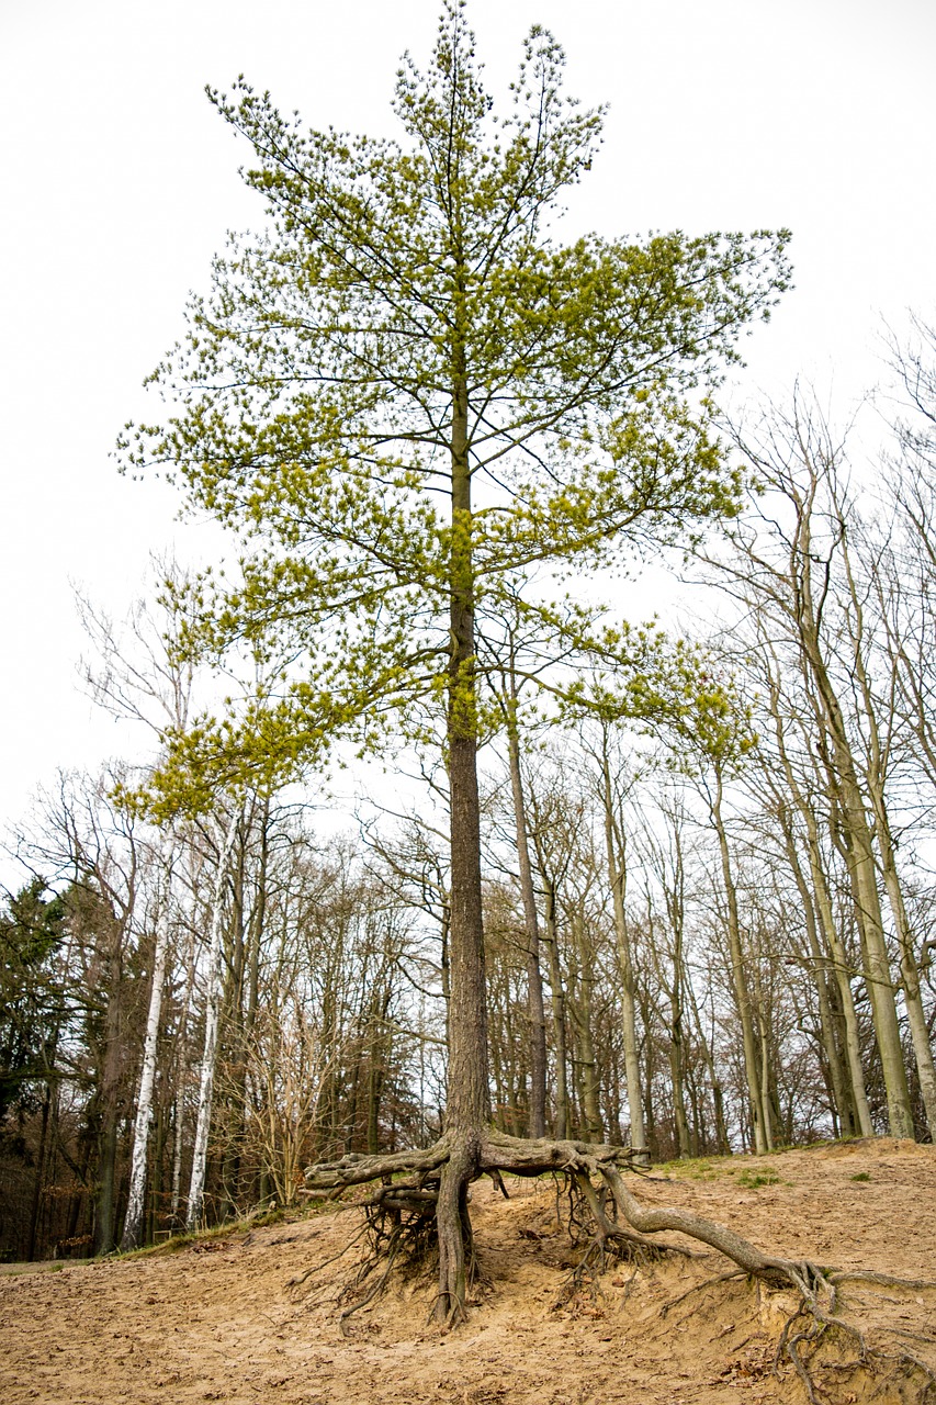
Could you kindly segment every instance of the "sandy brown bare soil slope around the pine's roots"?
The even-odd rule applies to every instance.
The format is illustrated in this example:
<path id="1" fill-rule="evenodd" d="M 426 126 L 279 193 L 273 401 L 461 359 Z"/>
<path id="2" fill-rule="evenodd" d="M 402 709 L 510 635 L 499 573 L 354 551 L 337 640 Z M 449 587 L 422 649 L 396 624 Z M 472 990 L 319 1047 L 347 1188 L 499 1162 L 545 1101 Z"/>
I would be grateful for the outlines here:
<path id="1" fill-rule="evenodd" d="M 856 1179 L 870 1177 L 870 1179 Z M 767 1182 L 767 1183 L 763 1183 Z M 891 1139 L 738 1156 L 654 1172 L 646 1204 L 679 1204 L 759 1246 L 839 1269 L 936 1280 L 936 1148 Z M 427 1325 L 433 1286 L 396 1281 L 337 1325 L 336 1293 L 357 1246 L 336 1255 L 356 1208 L 205 1239 L 174 1253 L 0 1277 L 0 1399 L 70 1405 L 724 1405 L 798 1402 L 774 1349 L 793 1293 L 745 1279 L 710 1283 L 718 1255 L 611 1264 L 571 1297 L 575 1262 L 555 1191 L 474 1187 L 486 1286 L 465 1326 Z M 670 1236 L 672 1238 L 672 1236 Z M 594 1290 L 594 1291 L 593 1291 Z M 691 1291 L 689 1291 L 691 1290 Z M 687 1294 L 683 1297 L 683 1294 Z M 936 1370 L 936 1288 L 843 1284 L 843 1315 L 874 1356 L 826 1333 L 812 1360 L 818 1398 L 922 1399 Z M 679 1301 L 677 1301 L 679 1300 Z M 930 1392 L 936 1399 L 936 1388 Z"/>

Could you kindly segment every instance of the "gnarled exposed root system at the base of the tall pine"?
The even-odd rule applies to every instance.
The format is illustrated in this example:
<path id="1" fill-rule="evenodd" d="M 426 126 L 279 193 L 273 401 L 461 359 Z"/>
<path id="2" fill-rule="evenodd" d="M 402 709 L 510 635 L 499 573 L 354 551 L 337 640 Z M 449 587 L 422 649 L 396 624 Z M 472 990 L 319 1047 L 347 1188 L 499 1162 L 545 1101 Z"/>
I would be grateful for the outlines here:
<path id="1" fill-rule="evenodd" d="M 933 1374 L 912 1353 L 891 1357 L 870 1350 L 863 1333 L 838 1311 L 839 1287 L 849 1281 L 918 1291 L 936 1288 L 936 1283 L 901 1280 L 873 1270 L 836 1272 L 810 1259 L 774 1257 L 734 1229 L 687 1210 L 641 1204 L 624 1182 L 625 1170 L 642 1170 L 639 1154 L 630 1148 L 550 1138 L 531 1141 L 493 1130 L 468 1135 L 462 1132 L 460 1137 L 447 1132 L 426 1151 L 396 1152 L 389 1156 L 343 1156 L 337 1162 L 311 1166 L 306 1170 L 311 1190 L 340 1191 L 349 1186 L 381 1182 L 365 1204 L 370 1253 L 347 1288 L 354 1294 L 354 1301 L 342 1312 L 342 1328 L 354 1312 L 374 1301 L 395 1269 L 424 1267 L 436 1255 L 438 1290 L 433 1300 L 433 1315 L 443 1328 L 464 1321 L 468 1294 L 476 1277 L 468 1186 L 488 1175 L 506 1196 L 505 1173 L 527 1177 L 551 1173 L 557 1179 L 557 1217 L 572 1243 L 582 1248 L 579 1262 L 559 1290 L 557 1305 L 575 1301 L 586 1291 L 597 1305 L 600 1277 L 609 1256 L 635 1264 L 663 1253 L 700 1257 L 697 1249 L 658 1238 L 669 1231 L 707 1249 L 715 1249 L 732 1267 L 668 1302 L 665 1314 L 693 1293 L 742 1276 L 773 1287 L 794 1288 L 797 1307 L 780 1333 L 774 1370 L 783 1359 L 788 1360 L 811 1405 L 818 1405 L 818 1394 L 810 1363 L 814 1361 L 821 1340 L 829 1333 L 838 1333 L 853 1343 L 854 1367 L 871 1360 L 904 1361 L 916 1375 L 923 1374 L 921 1401 L 936 1388 Z M 406 1179 L 401 1180 L 401 1175 Z M 562 1187 L 568 1197 L 564 1213 Z M 292 1283 L 304 1281 L 305 1277 Z"/>

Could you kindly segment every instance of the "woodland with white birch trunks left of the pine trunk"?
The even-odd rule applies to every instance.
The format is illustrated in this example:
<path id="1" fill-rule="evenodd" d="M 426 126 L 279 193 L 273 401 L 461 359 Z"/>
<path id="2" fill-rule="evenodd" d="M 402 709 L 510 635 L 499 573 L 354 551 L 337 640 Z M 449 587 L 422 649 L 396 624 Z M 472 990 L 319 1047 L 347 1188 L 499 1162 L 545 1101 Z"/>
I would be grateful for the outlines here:
<path id="1" fill-rule="evenodd" d="M 126 1239 L 148 1055 L 139 1242 L 193 1220 L 193 1196 L 197 1224 L 291 1204 L 311 1155 L 409 1144 L 438 1117 L 437 1069 L 423 1061 L 420 1085 L 403 1024 L 434 971 L 360 856 L 256 795 L 166 846 L 112 781 L 63 784 L 42 853 L 59 891 L 34 880 L 0 927 L 0 1234 L 17 1257 Z"/>

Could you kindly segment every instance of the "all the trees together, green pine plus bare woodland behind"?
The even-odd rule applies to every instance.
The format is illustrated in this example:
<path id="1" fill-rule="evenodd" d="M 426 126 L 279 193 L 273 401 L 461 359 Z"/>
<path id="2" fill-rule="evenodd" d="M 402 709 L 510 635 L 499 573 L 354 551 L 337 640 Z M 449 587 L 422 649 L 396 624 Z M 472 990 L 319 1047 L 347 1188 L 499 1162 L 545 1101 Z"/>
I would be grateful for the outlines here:
<path id="1" fill-rule="evenodd" d="M 451 1321 L 482 1124 L 530 1173 L 933 1137 L 936 332 L 890 343 L 871 436 L 804 386 L 728 422 L 786 232 L 559 244 L 600 112 L 550 35 L 524 65 L 495 139 L 447 6 L 412 152 L 211 94 L 271 229 L 121 452 L 245 555 L 157 563 L 122 622 L 80 601 L 86 686 L 149 743 L 11 842 L 6 1259 L 434 1144 Z M 607 606 L 649 559 L 689 622 Z"/>

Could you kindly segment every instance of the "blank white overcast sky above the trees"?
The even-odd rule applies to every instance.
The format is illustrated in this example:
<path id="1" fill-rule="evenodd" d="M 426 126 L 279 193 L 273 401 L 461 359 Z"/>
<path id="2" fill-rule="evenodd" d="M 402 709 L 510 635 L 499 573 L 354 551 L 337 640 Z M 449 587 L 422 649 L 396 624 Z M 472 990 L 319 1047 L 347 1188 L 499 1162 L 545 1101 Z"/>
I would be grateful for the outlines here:
<path id="1" fill-rule="evenodd" d="M 122 423 L 181 332 L 226 229 L 261 222 L 207 103 L 243 72 L 309 125 L 392 132 L 396 62 L 437 0 L 0 0 L 4 683 L 0 826 L 59 766 L 129 738 L 80 694 L 70 582 L 119 614 L 150 549 L 197 562 L 156 483 L 117 476 Z M 748 343 L 745 388 L 802 374 L 843 409 L 880 377 L 881 319 L 936 315 L 933 0 L 471 0 L 502 93 L 533 22 L 569 91 L 610 103 L 576 225 L 794 230 L 794 291 Z M 634 613 L 646 614 L 652 601 Z"/>

